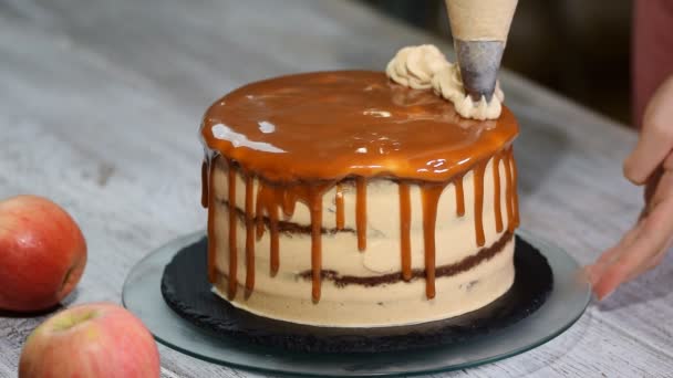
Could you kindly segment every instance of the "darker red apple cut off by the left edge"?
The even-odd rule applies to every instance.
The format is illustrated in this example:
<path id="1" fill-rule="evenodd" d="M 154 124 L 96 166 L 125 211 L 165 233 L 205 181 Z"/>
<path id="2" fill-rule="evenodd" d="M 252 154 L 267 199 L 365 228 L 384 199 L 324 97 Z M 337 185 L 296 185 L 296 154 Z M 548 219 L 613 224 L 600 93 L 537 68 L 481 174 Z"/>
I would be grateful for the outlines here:
<path id="1" fill-rule="evenodd" d="M 84 265 L 86 242 L 65 210 L 35 196 L 0 202 L 0 308 L 54 306 L 75 287 Z"/>

